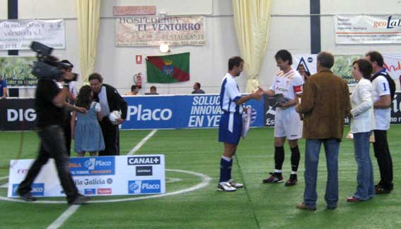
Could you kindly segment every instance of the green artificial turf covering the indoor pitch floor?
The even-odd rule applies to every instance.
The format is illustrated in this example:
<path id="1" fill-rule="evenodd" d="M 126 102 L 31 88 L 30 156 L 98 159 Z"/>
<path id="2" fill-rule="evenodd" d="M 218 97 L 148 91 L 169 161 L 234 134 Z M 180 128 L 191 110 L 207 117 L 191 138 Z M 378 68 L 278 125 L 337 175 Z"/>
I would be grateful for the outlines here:
<path id="1" fill-rule="evenodd" d="M 348 131 L 346 128 L 345 131 Z M 151 130 L 120 131 L 121 151 L 127 154 Z M 391 194 L 376 196 L 368 202 L 347 203 L 356 190 L 356 162 L 351 141 L 340 144 L 339 203 L 334 211 L 325 209 L 326 164 L 324 149 L 320 153 L 317 211 L 295 208 L 303 201 L 303 159 L 305 141 L 300 140 L 301 163 L 298 185 L 262 184 L 274 169 L 272 128 L 252 128 L 241 140 L 233 164 L 233 178 L 244 182 L 237 192 L 217 192 L 219 161 L 223 145 L 217 142 L 218 130 L 158 130 L 136 154 L 165 154 L 165 168 L 192 171 L 209 176 L 206 187 L 182 194 L 155 199 L 114 203 L 90 203 L 81 206 L 62 228 L 401 228 L 400 140 L 401 125 L 392 125 L 388 142 L 393 156 L 395 189 Z M 8 175 L 10 159 L 30 159 L 36 155 L 38 138 L 35 132 L 23 133 L 23 150 L 18 154 L 21 132 L 0 132 L 0 178 Z M 285 146 L 284 179 L 291 170 L 288 144 Z M 75 156 L 74 152 L 72 156 Z M 378 166 L 371 158 L 375 182 Z M 177 192 L 202 182 L 202 178 L 179 171 L 166 171 L 167 192 Z M 4 185 L 6 179 L 0 180 Z M 6 188 L 0 188 L 6 196 Z M 122 199 L 93 197 L 93 200 Z M 143 196 L 142 196 L 143 197 Z M 60 198 L 47 198 L 57 199 Z M 69 206 L 35 204 L 0 200 L 0 228 L 47 228 Z"/>

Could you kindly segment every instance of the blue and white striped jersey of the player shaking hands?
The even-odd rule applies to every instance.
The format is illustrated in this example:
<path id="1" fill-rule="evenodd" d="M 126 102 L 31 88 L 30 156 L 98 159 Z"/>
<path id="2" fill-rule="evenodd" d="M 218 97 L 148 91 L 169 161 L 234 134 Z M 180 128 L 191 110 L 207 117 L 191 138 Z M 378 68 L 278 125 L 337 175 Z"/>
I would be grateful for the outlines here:
<path id="1" fill-rule="evenodd" d="M 226 73 L 221 82 L 220 107 L 226 112 L 243 113 L 243 106 L 237 105 L 236 101 L 240 99 L 240 87 L 230 73 Z"/>

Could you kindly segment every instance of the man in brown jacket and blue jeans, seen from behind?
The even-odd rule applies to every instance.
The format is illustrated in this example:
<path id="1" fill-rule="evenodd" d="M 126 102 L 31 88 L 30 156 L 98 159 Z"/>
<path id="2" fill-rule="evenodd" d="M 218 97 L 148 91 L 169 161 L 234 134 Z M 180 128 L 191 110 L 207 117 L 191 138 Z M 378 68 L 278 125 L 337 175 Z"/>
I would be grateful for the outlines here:
<path id="1" fill-rule="evenodd" d="M 349 89 L 347 82 L 334 75 L 330 68 L 334 56 L 322 51 L 318 55 L 318 73 L 310 76 L 303 90 L 301 104 L 296 111 L 302 113 L 305 150 L 305 192 L 298 209 L 316 210 L 316 180 L 320 146 L 325 146 L 327 209 L 337 208 L 338 202 L 338 153 L 344 131 L 344 118 L 349 115 Z"/>

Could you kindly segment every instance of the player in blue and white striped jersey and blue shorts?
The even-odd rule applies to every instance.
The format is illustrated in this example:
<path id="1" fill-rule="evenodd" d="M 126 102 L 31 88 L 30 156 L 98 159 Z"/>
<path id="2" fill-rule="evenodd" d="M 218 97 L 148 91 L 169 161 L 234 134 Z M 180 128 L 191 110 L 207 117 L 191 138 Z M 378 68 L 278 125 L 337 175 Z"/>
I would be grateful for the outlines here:
<path id="1" fill-rule="evenodd" d="M 244 61 L 239 56 L 233 56 L 228 60 L 228 73 L 221 82 L 220 107 L 223 111 L 219 123 L 219 142 L 224 144 L 223 156 L 220 161 L 220 180 L 217 190 L 223 192 L 233 192 L 243 184 L 235 182 L 231 178 L 231 168 L 233 167 L 233 156 L 236 154 L 238 142 L 243 126 L 243 106 L 242 104 L 250 99 L 260 99 L 262 89 L 258 89 L 252 94 L 241 96 L 240 87 L 234 78 L 238 77 L 243 71 Z"/>

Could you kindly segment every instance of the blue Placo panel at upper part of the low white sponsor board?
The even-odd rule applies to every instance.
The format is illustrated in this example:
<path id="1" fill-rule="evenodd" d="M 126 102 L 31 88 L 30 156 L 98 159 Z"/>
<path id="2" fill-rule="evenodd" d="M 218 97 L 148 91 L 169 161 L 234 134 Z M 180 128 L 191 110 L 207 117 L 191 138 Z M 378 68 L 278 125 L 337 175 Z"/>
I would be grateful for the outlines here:
<path id="1" fill-rule="evenodd" d="M 72 175 L 114 175 L 115 157 L 98 156 L 69 159 Z"/>

